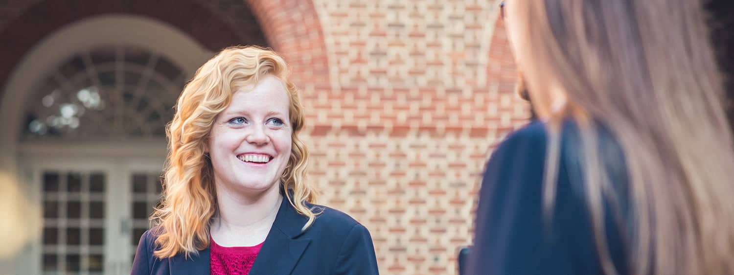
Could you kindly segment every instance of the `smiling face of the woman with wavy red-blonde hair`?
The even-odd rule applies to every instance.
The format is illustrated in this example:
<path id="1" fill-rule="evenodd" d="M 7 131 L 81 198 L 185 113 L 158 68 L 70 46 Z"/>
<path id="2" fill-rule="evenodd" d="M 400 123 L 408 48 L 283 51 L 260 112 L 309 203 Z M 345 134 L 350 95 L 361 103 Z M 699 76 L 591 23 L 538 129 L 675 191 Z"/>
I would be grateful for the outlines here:
<path id="1" fill-rule="evenodd" d="M 217 188 L 260 194 L 277 186 L 291 156 L 289 109 L 288 92 L 275 76 L 232 95 L 208 139 Z"/>

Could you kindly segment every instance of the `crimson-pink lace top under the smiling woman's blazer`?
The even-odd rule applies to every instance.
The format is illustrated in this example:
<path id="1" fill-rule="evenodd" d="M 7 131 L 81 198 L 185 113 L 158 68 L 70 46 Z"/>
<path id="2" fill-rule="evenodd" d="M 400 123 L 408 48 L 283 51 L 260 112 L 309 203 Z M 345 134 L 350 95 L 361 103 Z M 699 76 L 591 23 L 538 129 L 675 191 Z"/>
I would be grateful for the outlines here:
<path id="1" fill-rule="evenodd" d="M 247 275 L 263 243 L 257 246 L 219 246 L 211 238 L 211 275 Z"/>

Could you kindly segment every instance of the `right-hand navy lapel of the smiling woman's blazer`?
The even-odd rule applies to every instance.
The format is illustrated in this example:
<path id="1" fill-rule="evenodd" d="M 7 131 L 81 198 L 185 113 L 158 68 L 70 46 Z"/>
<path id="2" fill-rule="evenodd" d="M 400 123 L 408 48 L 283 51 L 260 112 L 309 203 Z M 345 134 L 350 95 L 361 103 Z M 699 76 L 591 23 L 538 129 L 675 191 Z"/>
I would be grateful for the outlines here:
<path id="1" fill-rule="evenodd" d="M 308 218 L 299 214 L 283 196 L 275 222 L 265 238 L 250 275 L 287 275 L 301 258 L 310 239 L 298 238 Z"/>

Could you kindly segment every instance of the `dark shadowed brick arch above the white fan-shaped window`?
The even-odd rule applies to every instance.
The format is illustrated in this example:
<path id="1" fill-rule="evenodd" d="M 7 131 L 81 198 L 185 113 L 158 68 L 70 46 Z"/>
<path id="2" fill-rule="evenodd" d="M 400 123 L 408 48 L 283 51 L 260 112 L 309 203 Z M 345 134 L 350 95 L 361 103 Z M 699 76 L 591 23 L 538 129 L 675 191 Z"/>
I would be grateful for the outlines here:
<path id="1" fill-rule="evenodd" d="M 96 15 L 128 14 L 154 18 L 189 34 L 210 51 L 238 44 L 268 45 L 247 5 L 241 4 L 236 11 L 239 18 L 233 22 L 196 0 L 41 1 L 24 9 L 0 29 L 4 42 L 3 51 L 0 51 L 0 60 L 4 61 L 4 65 L 0 65 L 0 84 L 6 83 L 24 54 L 46 35 L 69 23 Z M 245 26 L 242 26 L 243 21 L 247 22 Z"/>

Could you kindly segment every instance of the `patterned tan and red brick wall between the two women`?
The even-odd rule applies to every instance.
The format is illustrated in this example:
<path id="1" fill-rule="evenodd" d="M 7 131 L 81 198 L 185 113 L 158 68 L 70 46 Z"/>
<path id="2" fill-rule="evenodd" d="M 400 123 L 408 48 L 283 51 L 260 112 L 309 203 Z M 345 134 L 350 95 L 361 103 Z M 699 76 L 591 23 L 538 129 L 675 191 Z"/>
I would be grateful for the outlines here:
<path id="1" fill-rule="evenodd" d="M 321 203 L 366 224 L 381 274 L 457 274 L 487 156 L 528 117 L 498 3 L 314 6 L 330 82 L 302 87 Z"/>

